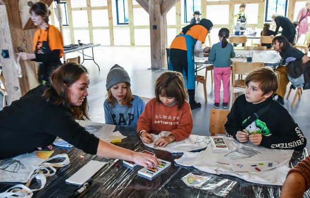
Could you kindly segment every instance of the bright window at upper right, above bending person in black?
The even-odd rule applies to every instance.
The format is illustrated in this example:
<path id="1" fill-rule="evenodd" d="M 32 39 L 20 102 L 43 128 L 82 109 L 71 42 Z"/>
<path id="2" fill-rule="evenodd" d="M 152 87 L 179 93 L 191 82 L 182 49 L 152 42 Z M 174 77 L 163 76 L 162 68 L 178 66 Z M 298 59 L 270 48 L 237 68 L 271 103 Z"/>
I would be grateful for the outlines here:
<path id="1" fill-rule="evenodd" d="M 265 21 L 272 21 L 272 14 L 278 13 L 286 16 L 287 0 L 267 0 Z"/>

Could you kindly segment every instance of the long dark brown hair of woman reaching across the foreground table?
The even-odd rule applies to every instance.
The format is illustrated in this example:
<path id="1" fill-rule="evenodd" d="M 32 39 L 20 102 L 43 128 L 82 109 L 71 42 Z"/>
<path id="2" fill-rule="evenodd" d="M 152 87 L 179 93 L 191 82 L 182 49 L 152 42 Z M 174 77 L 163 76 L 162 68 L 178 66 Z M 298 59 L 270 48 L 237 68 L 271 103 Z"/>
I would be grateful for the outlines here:
<path id="1" fill-rule="evenodd" d="M 82 105 L 74 106 L 70 104 L 70 91 L 68 89 L 78 81 L 83 73 L 88 73 L 83 65 L 72 62 L 62 65 L 50 76 L 51 85 L 43 94 L 47 101 L 52 100 L 55 105 L 62 104 L 75 119 L 82 119 L 83 116 L 89 119 L 87 97 L 85 97 Z"/>

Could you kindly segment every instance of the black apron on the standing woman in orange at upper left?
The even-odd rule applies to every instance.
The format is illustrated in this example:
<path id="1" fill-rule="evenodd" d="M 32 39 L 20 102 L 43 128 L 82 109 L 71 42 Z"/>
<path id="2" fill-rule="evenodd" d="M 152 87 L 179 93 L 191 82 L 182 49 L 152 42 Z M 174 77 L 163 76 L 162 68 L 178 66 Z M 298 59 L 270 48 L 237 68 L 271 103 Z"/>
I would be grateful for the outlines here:
<path id="1" fill-rule="evenodd" d="M 51 54 L 52 51 L 48 45 L 48 32 L 47 27 L 47 41 L 38 41 L 35 49 L 35 54 Z M 40 40 L 40 35 L 39 39 Z M 62 65 L 62 61 L 59 59 L 54 62 L 41 62 L 39 65 L 38 78 L 41 85 L 50 85 L 49 77 L 56 68 Z"/>

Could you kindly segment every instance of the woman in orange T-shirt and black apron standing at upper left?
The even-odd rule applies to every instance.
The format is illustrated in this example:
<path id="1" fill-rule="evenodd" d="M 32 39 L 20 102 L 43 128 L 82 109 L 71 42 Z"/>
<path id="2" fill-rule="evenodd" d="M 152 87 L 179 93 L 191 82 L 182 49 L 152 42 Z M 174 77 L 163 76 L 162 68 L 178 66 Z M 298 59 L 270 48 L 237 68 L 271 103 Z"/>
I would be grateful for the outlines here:
<path id="1" fill-rule="evenodd" d="M 23 60 L 40 62 L 38 78 L 42 85 L 48 85 L 51 73 L 62 65 L 60 58 L 63 56 L 62 34 L 55 26 L 48 24 L 50 14 L 47 4 L 34 3 L 30 8 L 30 18 L 38 27 L 33 37 L 33 54 L 22 52 Z"/>

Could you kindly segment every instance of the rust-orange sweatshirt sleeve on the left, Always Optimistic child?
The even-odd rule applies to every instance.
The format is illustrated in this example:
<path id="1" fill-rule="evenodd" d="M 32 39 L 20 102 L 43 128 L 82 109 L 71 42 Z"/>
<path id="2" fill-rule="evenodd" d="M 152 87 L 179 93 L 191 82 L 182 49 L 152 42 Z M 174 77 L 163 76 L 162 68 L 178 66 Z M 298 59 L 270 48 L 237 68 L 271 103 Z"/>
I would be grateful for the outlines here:
<path id="1" fill-rule="evenodd" d="M 141 113 L 138 121 L 137 121 L 137 133 L 141 130 L 146 130 L 146 132 L 150 132 L 152 130 L 152 109 L 153 105 L 156 102 L 156 98 L 151 99 L 148 103 L 146 103 L 144 111 Z"/>

